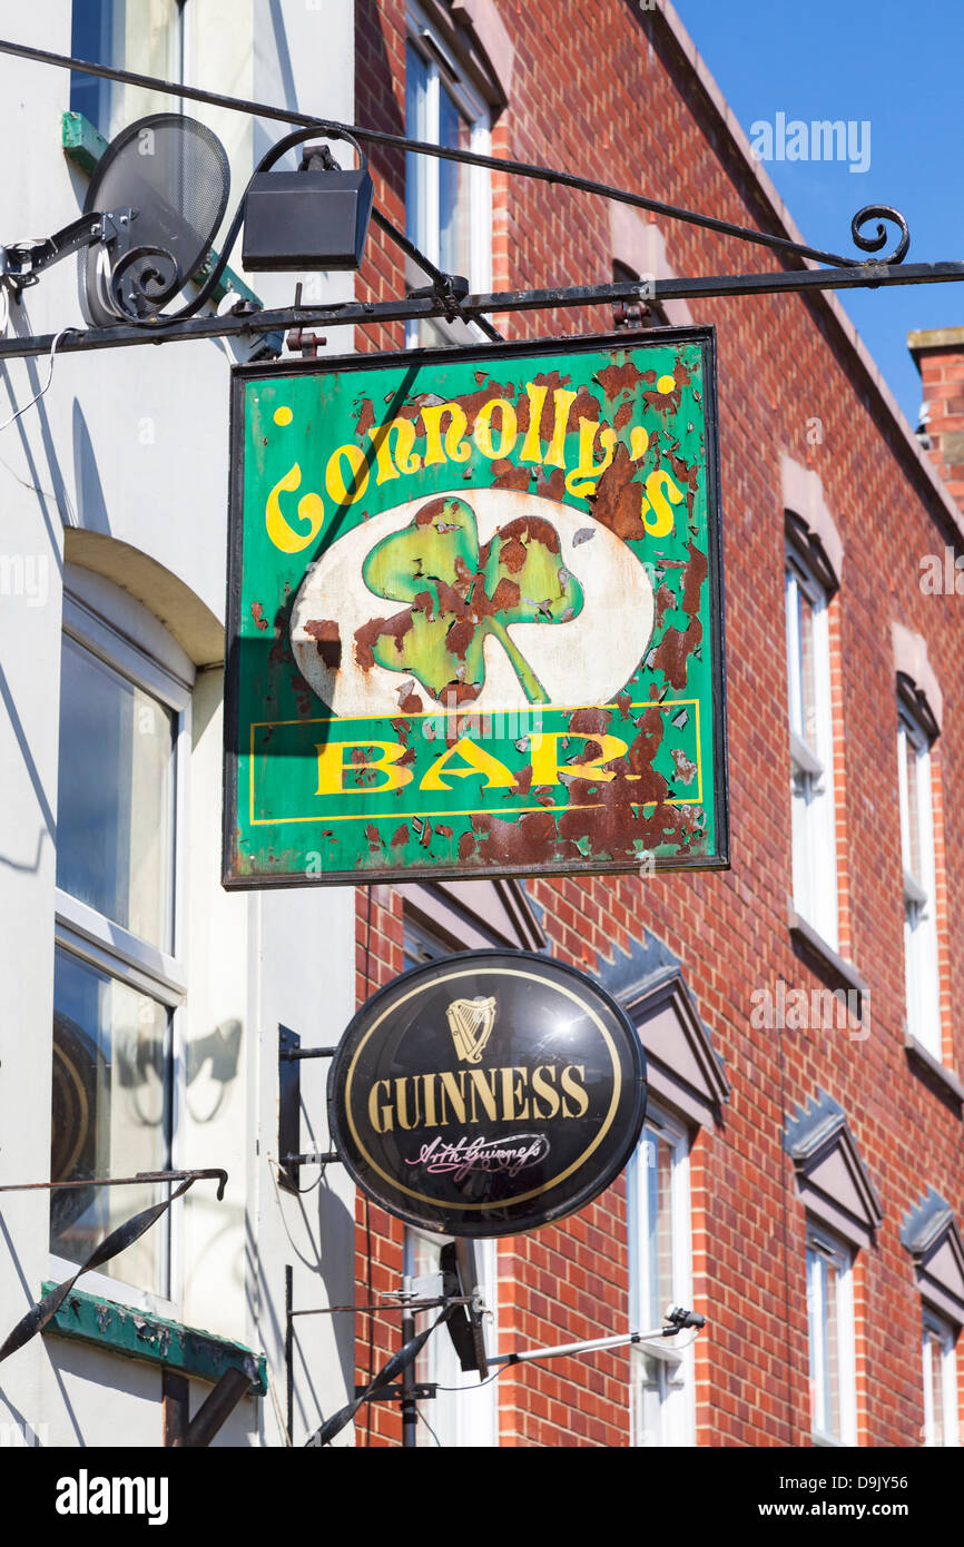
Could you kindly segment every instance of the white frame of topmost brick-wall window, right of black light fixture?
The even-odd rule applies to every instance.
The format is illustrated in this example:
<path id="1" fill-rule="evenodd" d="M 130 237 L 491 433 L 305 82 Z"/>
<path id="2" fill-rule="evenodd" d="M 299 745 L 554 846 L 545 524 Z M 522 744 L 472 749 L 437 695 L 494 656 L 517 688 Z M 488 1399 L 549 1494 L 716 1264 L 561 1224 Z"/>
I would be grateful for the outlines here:
<path id="1" fill-rule="evenodd" d="M 469 149 L 480 156 L 492 153 L 492 114 L 489 104 L 475 91 L 469 82 L 458 74 L 443 40 L 429 22 L 426 12 L 409 0 L 405 8 L 407 45 L 412 45 L 424 59 L 429 70 L 427 82 L 427 118 L 429 127 L 426 139 L 438 144 L 439 138 L 439 101 L 443 85 L 455 99 L 458 111 L 469 124 Z M 407 118 L 405 84 L 405 118 Z M 435 156 L 419 156 L 419 170 L 426 187 L 426 237 L 422 241 L 412 232 L 412 212 L 409 204 L 409 178 L 405 176 L 405 232 L 424 255 L 436 266 L 441 266 L 441 227 L 439 227 L 439 169 L 441 161 Z M 469 179 L 469 289 L 473 294 L 487 294 L 492 289 L 492 173 L 487 167 L 466 167 Z M 429 278 L 426 277 L 426 283 Z M 443 323 L 444 330 L 444 323 Z M 475 322 L 469 323 L 473 336 L 484 339 L 486 334 Z M 419 347 L 418 319 L 405 323 L 405 348 Z"/>

